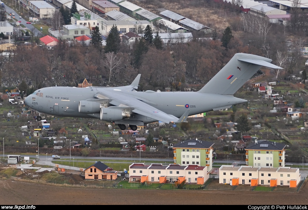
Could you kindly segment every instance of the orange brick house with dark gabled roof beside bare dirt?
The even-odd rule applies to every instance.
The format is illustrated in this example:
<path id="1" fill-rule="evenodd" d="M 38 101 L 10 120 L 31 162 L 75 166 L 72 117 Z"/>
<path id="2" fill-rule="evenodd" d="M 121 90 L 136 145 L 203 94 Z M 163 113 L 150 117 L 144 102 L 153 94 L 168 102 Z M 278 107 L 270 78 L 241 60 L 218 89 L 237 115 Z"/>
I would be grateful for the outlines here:
<path id="1" fill-rule="evenodd" d="M 109 167 L 101 161 L 97 161 L 84 170 L 86 180 L 115 180 L 118 177 L 116 171 L 108 171 Z"/>

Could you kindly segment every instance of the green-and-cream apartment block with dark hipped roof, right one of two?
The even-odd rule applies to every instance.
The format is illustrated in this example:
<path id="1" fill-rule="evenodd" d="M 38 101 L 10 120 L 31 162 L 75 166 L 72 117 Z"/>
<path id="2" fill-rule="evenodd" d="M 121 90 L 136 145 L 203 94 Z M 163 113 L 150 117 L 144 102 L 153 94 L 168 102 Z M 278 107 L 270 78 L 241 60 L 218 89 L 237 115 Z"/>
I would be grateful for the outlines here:
<path id="1" fill-rule="evenodd" d="M 253 167 L 285 166 L 285 144 L 259 141 L 249 144 L 246 150 L 246 165 Z"/>

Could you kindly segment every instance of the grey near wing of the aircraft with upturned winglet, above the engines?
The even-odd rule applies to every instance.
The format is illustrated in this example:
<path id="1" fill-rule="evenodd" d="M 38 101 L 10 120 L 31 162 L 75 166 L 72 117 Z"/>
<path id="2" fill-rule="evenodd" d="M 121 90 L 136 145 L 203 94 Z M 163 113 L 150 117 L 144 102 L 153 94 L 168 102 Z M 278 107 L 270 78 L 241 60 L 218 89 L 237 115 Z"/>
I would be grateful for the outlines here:
<path id="1" fill-rule="evenodd" d="M 146 117 L 165 123 L 186 122 L 187 116 L 189 114 L 189 110 L 187 110 L 180 118 L 177 118 L 173 115 L 168 115 L 167 113 L 160 111 L 138 99 L 132 98 L 131 96 L 128 97 L 125 94 L 119 94 L 117 92 L 118 91 L 113 91 L 112 93 L 108 93 L 108 95 L 112 95 L 112 99 L 109 104 L 116 106 L 114 108 L 120 108 L 123 110 L 130 109 L 130 111 L 133 113 L 144 115 Z M 101 93 L 101 95 L 104 95 L 104 93 Z"/>

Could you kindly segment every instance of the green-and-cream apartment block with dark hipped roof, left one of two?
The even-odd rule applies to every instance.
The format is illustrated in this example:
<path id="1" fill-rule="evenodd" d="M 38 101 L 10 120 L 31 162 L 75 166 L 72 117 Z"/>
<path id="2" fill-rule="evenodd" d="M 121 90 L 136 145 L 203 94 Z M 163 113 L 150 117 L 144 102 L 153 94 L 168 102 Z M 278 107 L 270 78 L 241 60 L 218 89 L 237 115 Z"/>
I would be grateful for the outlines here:
<path id="1" fill-rule="evenodd" d="M 212 170 L 213 142 L 190 139 L 173 146 L 174 162 L 179 165 L 207 166 Z"/>

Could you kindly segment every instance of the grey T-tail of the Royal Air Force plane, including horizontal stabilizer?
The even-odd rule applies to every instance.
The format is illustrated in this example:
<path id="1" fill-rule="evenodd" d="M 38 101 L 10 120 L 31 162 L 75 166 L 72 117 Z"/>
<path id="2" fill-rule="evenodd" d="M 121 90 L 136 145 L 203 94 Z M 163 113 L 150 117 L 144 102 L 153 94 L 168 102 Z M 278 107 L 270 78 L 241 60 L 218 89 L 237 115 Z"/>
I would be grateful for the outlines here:
<path id="1" fill-rule="evenodd" d="M 272 62 L 272 60 L 269 58 L 246 53 L 237 53 L 198 92 L 233 95 L 262 66 L 269 68 L 281 68 L 271 64 L 270 62 Z"/>

